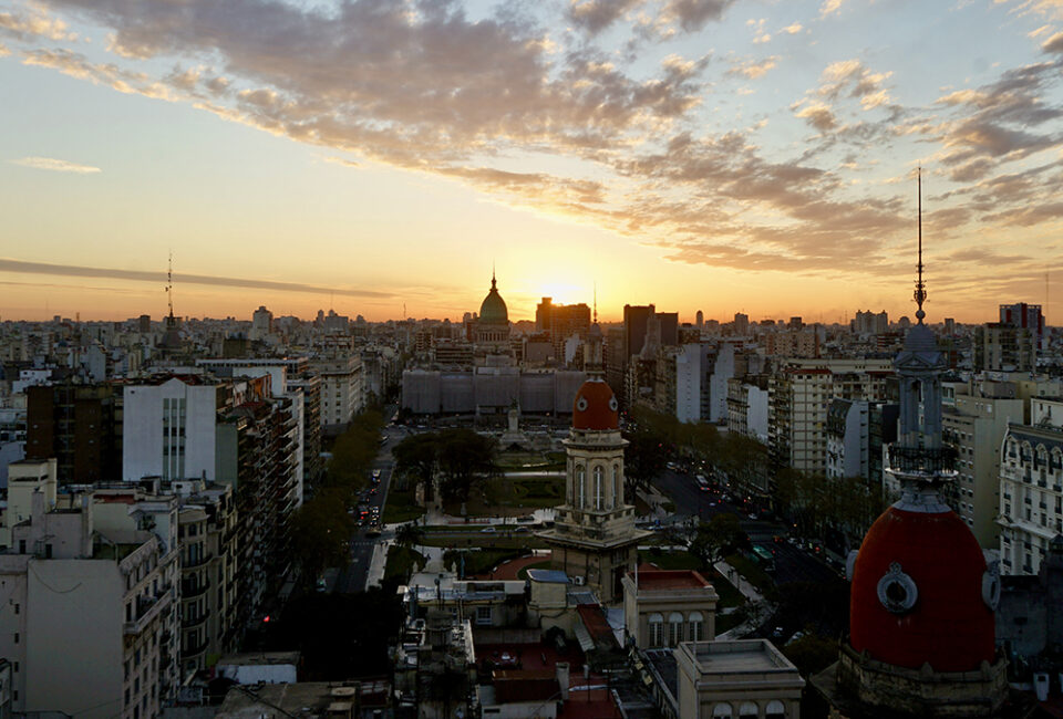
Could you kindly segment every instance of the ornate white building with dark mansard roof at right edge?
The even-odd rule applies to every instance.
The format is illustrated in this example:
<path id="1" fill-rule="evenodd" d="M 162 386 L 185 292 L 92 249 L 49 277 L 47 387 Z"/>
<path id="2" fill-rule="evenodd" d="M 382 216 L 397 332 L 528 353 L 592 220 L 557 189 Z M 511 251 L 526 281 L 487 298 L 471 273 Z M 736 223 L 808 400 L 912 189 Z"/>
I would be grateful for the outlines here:
<path id="1" fill-rule="evenodd" d="M 1009 424 L 1001 451 L 1001 572 L 1035 575 L 1063 533 L 1063 399 L 1032 399 L 1030 424 Z"/>

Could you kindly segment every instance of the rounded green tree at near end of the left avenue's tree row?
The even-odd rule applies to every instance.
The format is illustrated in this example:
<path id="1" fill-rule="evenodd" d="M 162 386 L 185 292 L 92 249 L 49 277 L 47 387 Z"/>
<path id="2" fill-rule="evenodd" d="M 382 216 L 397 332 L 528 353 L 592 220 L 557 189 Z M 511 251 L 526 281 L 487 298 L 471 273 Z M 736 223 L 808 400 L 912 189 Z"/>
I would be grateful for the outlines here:
<path id="1" fill-rule="evenodd" d="M 323 489 L 296 510 L 291 518 L 291 543 L 306 584 L 314 582 L 327 566 L 347 562 L 347 543 L 353 532 L 354 522 L 347 513 L 341 490 Z"/>

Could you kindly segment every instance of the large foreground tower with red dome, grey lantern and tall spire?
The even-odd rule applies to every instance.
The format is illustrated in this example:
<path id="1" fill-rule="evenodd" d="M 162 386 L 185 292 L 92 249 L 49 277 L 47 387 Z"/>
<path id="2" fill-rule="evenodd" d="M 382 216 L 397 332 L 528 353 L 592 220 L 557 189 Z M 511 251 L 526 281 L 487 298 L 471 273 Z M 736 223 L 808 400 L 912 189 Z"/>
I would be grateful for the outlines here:
<path id="1" fill-rule="evenodd" d="M 998 716 L 1008 684 L 994 650 L 997 564 L 940 493 L 956 477 L 954 450 L 941 441 L 948 367 L 923 324 L 921 221 L 917 267 L 917 324 L 895 362 L 900 428 L 887 449 L 901 498 L 852 560 L 849 640 L 832 701 L 846 716 Z"/>

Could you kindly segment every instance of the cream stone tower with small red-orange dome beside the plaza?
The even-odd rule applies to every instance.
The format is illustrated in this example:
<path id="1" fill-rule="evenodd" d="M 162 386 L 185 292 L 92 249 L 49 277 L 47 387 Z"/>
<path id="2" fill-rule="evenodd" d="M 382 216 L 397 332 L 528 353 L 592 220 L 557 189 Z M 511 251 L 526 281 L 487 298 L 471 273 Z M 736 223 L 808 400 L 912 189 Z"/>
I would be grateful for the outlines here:
<path id="1" fill-rule="evenodd" d="M 567 455 L 565 503 L 554 528 L 539 533 L 553 550 L 550 569 L 594 590 L 602 604 L 623 596 L 621 580 L 634 571 L 637 544 L 652 534 L 634 527 L 625 502 L 620 415 L 612 389 L 592 375 L 576 393 Z"/>

